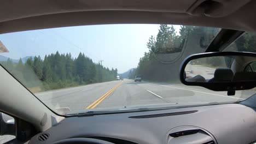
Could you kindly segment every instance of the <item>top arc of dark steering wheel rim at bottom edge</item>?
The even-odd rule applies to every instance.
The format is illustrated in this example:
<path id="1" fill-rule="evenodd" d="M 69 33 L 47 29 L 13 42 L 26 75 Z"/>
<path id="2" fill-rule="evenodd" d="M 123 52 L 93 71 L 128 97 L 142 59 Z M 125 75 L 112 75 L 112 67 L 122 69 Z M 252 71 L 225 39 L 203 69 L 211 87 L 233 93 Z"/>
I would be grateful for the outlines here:
<path id="1" fill-rule="evenodd" d="M 91 139 L 91 138 L 72 138 L 72 139 L 65 139 L 56 141 L 53 144 L 114 144 L 112 142 L 98 140 L 98 139 Z"/>

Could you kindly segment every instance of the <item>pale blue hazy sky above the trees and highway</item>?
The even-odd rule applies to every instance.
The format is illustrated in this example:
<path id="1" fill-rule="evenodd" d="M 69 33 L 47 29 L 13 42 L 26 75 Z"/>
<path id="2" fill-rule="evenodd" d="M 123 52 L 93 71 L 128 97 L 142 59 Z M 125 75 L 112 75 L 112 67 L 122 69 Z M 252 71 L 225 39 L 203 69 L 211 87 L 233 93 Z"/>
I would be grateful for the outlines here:
<path id="1" fill-rule="evenodd" d="M 179 31 L 179 26 L 174 28 Z M 158 29 L 159 25 L 94 25 L 1 34 L 0 40 L 9 53 L 0 55 L 14 59 L 38 55 L 43 58 L 59 51 L 77 57 L 83 52 L 92 61 L 102 59 L 104 67 L 124 73 L 137 67 L 139 58 L 148 52 L 150 35 L 156 37 Z"/>

